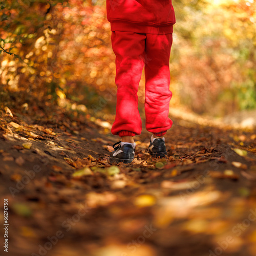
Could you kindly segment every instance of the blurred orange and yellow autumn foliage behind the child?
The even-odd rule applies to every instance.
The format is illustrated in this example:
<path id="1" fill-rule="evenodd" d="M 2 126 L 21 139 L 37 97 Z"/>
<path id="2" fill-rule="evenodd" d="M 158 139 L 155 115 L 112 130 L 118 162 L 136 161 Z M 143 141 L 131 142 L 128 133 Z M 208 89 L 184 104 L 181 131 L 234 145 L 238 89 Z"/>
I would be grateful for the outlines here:
<path id="1" fill-rule="evenodd" d="M 211 117 L 255 109 L 256 2 L 173 5 L 171 108 Z M 115 56 L 104 0 L 6 0 L 0 20 L 2 107 L 33 113 L 59 106 L 103 119 L 114 114 Z"/>

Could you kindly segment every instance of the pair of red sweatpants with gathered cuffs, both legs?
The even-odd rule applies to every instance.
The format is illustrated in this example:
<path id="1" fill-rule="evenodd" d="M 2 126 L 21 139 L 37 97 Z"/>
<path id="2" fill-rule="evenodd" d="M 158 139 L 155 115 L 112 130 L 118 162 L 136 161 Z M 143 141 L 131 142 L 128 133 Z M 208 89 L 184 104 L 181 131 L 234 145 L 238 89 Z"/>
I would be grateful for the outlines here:
<path id="1" fill-rule="evenodd" d="M 116 55 L 117 105 L 112 134 L 139 135 L 142 130 L 138 111 L 138 87 L 145 65 L 146 130 L 158 136 L 172 126 L 168 118 L 170 71 L 169 57 L 173 34 L 112 32 Z"/>

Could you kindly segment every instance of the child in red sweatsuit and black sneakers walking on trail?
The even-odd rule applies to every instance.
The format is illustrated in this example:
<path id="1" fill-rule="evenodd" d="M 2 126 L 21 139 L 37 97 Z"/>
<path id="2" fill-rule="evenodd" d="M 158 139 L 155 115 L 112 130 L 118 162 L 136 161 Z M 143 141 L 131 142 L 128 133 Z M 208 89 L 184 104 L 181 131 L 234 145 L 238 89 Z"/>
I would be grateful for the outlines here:
<path id="1" fill-rule="evenodd" d="M 146 129 L 153 134 L 148 152 L 164 157 L 163 135 L 173 123 L 168 118 L 175 24 L 172 0 L 106 0 L 106 12 L 116 55 L 117 105 L 111 132 L 122 138 L 113 145 L 110 162 L 131 163 L 134 159 L 133 137 L 142 129 L 137 92 L 144 66 Z"/>

